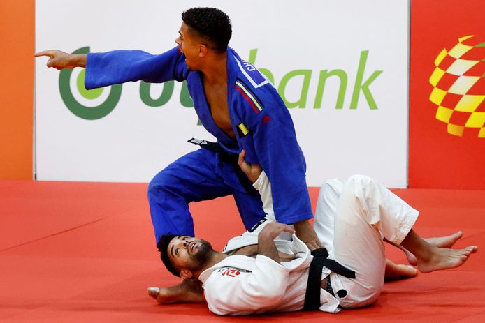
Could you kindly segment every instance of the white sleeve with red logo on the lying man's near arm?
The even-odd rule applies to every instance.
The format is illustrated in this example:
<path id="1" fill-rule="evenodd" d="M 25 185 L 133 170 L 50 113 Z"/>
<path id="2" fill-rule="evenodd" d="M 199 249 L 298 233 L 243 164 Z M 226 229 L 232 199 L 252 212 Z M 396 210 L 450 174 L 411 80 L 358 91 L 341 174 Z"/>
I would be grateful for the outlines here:
<path id="1" fill-rule="evenodd" d="M 269 257 L 257 255 L 254 271 L 219 269 L 205 280 L 205 300 L 218 315 L 261 313 L 284 295 L 290 269 Z"/>

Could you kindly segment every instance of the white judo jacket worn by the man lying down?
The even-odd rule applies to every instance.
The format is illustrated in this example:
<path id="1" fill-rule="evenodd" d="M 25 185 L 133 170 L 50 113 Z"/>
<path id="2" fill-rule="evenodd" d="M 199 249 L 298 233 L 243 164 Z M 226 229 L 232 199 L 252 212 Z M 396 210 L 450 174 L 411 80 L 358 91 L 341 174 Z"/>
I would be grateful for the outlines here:
<path id="1" fill-rule="evenodd" d="M 261 194 L 266 217 L 252 230 L 231 239 L 224 248 L 229 257 L 199 276 L 208 307 L 218 315 L 295 311 L 301 310 L 305 302 L 308 268 L 313 256 L 295 234 L 284 233 L 275 239 L 278 250 L 296 256 L 290 262 L 280 264 L 264 255 L 256 258 L 231 255 L 238 248 L 258 243 L 259 232 L 275 220 L 270 182 L 264 172 L 254 187 Z M 330 272 L 324 267 L 322 278 Z M 323 289 L 320 290 L 320 301 L 320 310 L 330 313 L 340 310 L 338 300 Z"/>

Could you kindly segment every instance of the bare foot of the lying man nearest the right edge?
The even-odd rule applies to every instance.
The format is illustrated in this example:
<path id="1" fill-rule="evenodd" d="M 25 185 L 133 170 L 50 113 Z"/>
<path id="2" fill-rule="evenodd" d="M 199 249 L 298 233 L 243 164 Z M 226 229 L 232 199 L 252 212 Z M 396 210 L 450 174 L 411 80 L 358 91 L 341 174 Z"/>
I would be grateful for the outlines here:
<path id="1" fill-rule="evenodd" d="M 417 264 L 421 273 L 430 273 L 435 270 L 451 269 L 461 266 L 472 253 L 476 253 L 477 246 L 464 249 L 447 249 L 434 247 L 426 257 L 418 257 Z"/>

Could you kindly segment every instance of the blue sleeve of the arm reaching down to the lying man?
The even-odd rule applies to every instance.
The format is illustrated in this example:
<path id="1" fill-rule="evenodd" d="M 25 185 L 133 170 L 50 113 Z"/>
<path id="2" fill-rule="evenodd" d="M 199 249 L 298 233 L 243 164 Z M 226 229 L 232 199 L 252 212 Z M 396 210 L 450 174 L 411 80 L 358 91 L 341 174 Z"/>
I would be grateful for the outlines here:
<path id="1" fill-rule="evenodd" d="M 275 218 L 292 224 L 313 217 L 305 158 L 287 107 L 272 85 L 264 88 L 257 92 L 263 109 L 256 114 L 247 107 L 245 119 L 252 131 L 256 158 L 270 179 Z"/>

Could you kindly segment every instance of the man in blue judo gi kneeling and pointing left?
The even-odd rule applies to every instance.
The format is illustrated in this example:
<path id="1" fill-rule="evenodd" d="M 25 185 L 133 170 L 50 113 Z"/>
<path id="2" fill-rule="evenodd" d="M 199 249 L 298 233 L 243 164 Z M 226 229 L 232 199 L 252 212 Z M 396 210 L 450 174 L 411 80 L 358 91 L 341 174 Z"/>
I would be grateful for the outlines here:
<path id="1" fill-rule="evenodd" d="M 58 69 L 85 66 L 87 89 L 138 80 L 187 80 L 196 113 L 218 146 L 182 156 L 150 182 L 157 242 L 168 232 L 194 236 L 189 202 L 233 195 L 247 229 L 263 218 L 259 194 L 237 172 L 238 154 L 244 150 L 245 160 L 261 165 L 273 185 L 277 221 L 294 224 L 301 240 L 317 248 L 319 241 L 307 221 L 312 209 L 305 158 L 282 98 L 259 70 L 228 47 L 232 31 L 225 13 L 191 8 L 182 20 L 178 47 L 163 54 L 117 50 L 73 55 L 55 50 L 36 56 L 49 56 L 48 66 Z"/>

